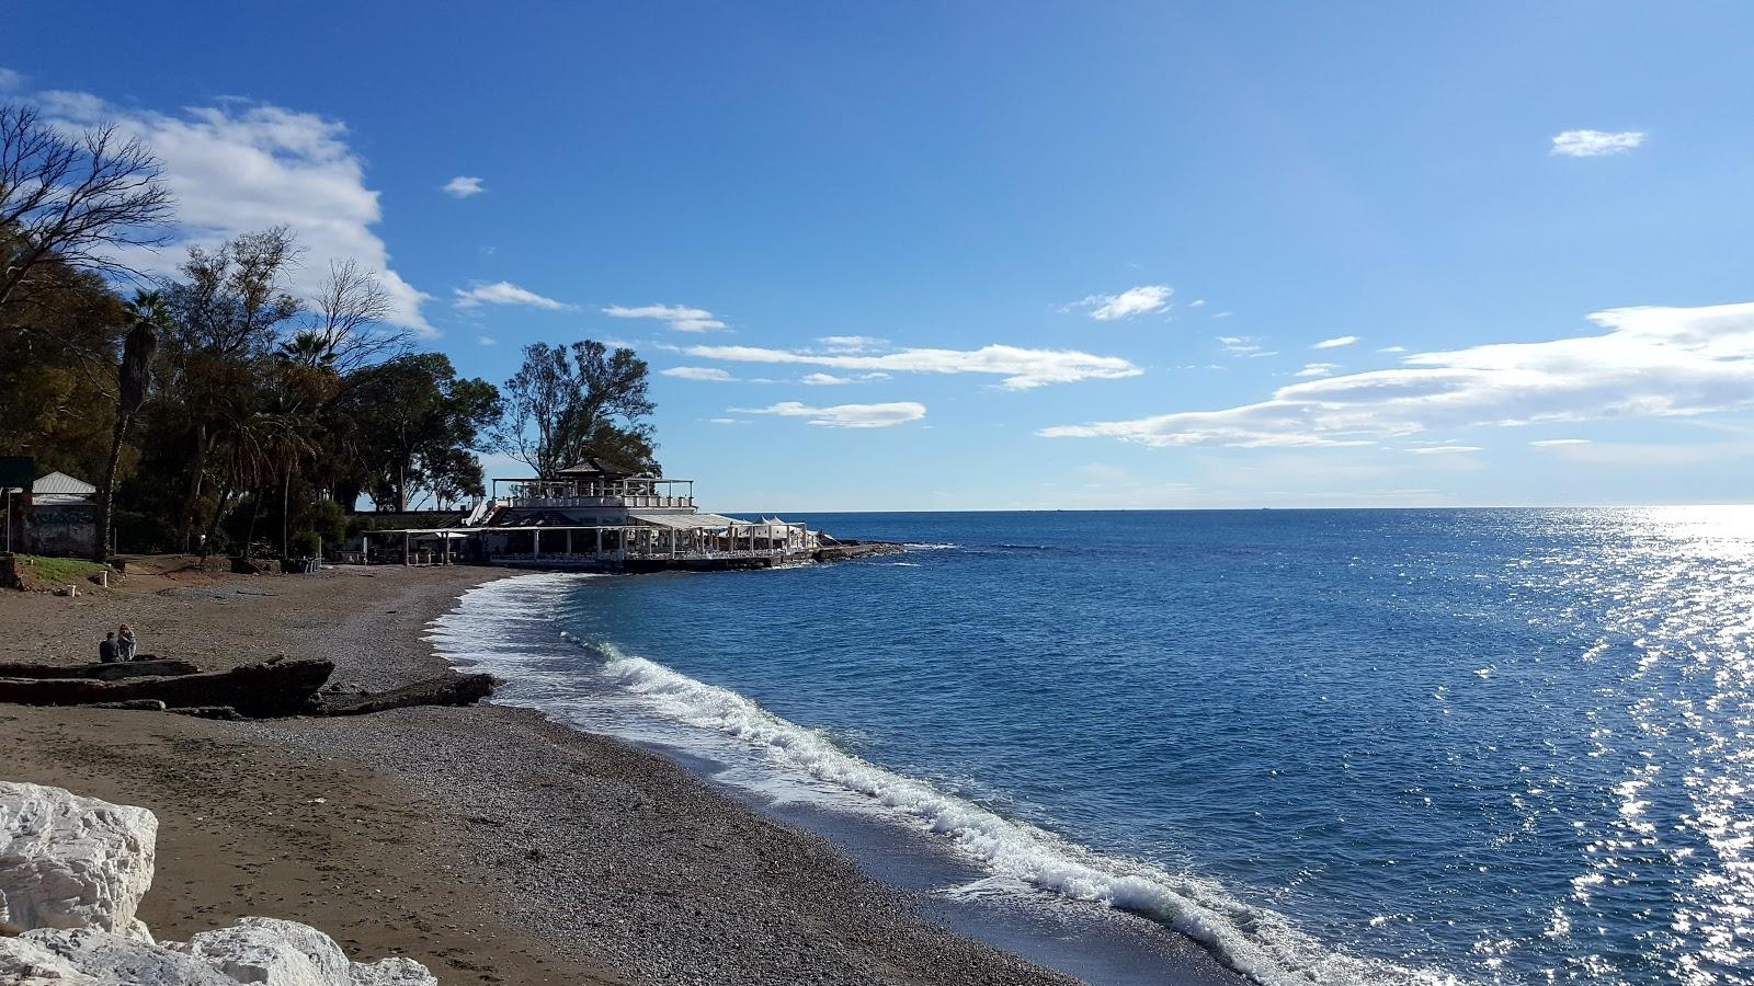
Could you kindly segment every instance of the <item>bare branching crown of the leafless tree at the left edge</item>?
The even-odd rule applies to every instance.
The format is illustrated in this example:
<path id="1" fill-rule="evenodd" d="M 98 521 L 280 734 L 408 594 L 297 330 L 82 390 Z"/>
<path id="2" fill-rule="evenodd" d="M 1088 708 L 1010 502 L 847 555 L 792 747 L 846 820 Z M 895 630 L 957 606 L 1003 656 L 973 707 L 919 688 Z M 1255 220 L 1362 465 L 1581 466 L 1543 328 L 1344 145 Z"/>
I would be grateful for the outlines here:
<path id="1" fill-rule="evenodd" d="M 68 135 L 28 105 L 0 105 L 0 307 L 32 274 L 135 274 L 116 256 L 165 242 L 172 218 L 163 165 L 116 126 Z"/>

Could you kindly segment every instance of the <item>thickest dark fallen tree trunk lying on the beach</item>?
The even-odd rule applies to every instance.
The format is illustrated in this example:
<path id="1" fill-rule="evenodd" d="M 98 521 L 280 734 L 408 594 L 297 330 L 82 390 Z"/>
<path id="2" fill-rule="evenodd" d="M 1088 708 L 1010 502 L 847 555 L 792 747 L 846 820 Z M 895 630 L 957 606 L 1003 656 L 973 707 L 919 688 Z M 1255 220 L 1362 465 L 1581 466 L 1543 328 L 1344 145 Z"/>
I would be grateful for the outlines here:
<path id="1" fill-rule="evenodd" d="M 332 661 L 279 661 L 223 672 L 126 681 L 0 677 L 0 702 L 96 705 L 156 698 L 170 709 L 230 705 L 251 719 L 296 716 L 333 674 Z"/>

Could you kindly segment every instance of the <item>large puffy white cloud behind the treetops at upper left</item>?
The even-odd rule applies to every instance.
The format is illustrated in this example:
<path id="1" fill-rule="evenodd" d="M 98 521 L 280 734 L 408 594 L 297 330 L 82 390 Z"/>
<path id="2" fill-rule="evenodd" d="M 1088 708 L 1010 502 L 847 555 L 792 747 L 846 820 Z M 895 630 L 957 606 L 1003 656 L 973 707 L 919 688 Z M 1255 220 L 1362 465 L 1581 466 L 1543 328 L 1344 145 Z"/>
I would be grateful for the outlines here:
<path id="1" fill-rule="evenodd" d="M 389 251 L 372 230 L 382 219 L 379 193 L 365 186 L 365 161 L 347 146 L 339 119 L 239 100 L 179 114 L 114 107 L 91 93 L 47 91 L 32 100 L 67 126 L 114 123 L 163 161 L 179 230 L 158 251 L 118 251 L 132 267 L 175 274 L 189 244 L 286 225 L 303 249 L 291 274 L 295 293 L 316 297 L 332 260 L 358 260 L 382 279 L 391 323 L 433 333 L 421 314 L 430 295 L 389 267 Z"/>

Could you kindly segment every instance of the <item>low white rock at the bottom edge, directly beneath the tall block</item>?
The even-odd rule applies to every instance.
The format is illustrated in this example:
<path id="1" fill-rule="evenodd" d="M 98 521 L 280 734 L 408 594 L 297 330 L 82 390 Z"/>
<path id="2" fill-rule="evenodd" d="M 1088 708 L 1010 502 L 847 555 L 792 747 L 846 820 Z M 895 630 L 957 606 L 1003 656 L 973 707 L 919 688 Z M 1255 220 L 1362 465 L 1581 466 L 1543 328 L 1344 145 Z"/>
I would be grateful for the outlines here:
<path id="1" fill-rule="evenodd" d="M 235 986 L 167 947 L 89 928 L 37 928 L 0 939 L 0 982 L 30 986 Z"/>

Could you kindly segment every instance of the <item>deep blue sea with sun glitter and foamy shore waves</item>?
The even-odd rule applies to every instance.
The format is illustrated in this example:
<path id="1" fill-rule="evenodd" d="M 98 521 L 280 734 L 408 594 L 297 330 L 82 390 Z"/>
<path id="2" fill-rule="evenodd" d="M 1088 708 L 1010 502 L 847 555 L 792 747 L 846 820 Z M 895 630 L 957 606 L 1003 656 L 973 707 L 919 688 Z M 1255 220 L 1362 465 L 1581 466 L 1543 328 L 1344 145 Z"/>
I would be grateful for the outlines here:
<path id="1" fill-rule="evenodd" d="M 1754 982 L 1754 507 L 786 519 L 431 640 L 1093 982 Z"/>

